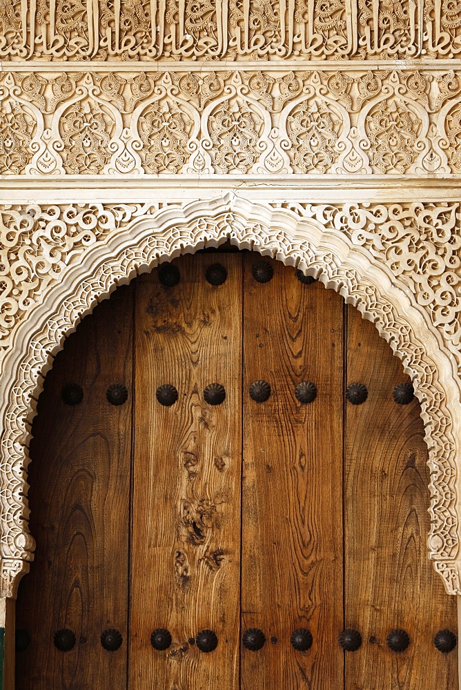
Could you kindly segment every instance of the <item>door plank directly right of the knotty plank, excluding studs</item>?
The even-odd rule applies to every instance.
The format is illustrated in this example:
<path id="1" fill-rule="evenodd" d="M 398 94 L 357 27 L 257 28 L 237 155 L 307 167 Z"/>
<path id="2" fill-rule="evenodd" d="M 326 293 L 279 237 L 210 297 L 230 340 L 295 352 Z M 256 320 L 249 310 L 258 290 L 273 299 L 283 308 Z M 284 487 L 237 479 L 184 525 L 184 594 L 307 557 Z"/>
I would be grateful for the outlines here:
<path id="1" fill-rule="evenodd" d="M 242 647 L 241 687 L 340 688 L 343 304 L 266 257 L 273 279 L 256 282 L 261 261 L 244 265 L 242 631 L 267 641 Z M 261 379 L 272 393 L 257 403 L 248 388 Z M 317 386 L 307 405 L 294 395 L 303 380 Z M 290 643 L 299 627 L 313 635 L 303 653 Z"/>

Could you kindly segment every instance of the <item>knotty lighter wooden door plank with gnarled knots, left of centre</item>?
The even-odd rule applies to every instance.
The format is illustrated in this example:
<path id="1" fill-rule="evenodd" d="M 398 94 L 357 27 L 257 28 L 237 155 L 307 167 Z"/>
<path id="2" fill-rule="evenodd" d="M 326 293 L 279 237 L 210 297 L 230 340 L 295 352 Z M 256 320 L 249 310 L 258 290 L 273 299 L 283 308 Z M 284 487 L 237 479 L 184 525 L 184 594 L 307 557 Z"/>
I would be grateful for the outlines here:
<path id="1" fill-rule="evenodd" d="M 206 268 L 226 267 L 210 285 Z M 181 279 L 143 276 L 136 296 L 135 460 L 130 690 L 238 687 L 242 259 L 195 255 L 173 262 Z M 226 389 L 222 404 L 204 388 Z M 156 400 L 173 384 L 172 406 Z M 150 646 L 166 628 L 166 651 Z M 215 651 L 195 638 L 215 631 Z"/>

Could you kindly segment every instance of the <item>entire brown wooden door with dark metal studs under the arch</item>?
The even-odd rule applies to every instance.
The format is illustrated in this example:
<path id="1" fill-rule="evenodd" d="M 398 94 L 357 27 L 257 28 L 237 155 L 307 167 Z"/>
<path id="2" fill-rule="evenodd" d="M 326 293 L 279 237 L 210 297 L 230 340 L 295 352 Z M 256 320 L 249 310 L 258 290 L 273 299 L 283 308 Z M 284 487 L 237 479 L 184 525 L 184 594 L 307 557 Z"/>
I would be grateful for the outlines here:
<path id="1" fill-rule="evenodd" d="M 458 687 L 419 412 L 293 268 L 199 253 L 119 288 L 39 400 L 17 689 Z"/>

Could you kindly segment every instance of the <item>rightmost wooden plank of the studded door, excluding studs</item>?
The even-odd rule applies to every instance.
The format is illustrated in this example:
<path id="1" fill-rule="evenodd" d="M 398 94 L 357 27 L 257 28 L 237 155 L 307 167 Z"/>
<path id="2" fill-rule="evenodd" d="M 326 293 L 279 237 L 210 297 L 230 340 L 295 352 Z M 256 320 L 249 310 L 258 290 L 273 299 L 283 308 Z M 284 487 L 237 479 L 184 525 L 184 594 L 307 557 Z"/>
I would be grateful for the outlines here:
<path id="1" fill-rule="evenodd" d="M 456 601 L 426 554 L 429 471 L 418 400 L 394 402 L 394 386 L 409 378 L 352 307 L 347 353 L 348 382 L 364 383 L 369 396 L 346 404 L 345 620 L 364 641 L 346 653 L 346 688 L 453 690 L 457 651 L 442 654 L 433 644 L 440 629 L 456 633 Z M 393 628 L 410 635 L 402 653 L 386 645 Z"/>

